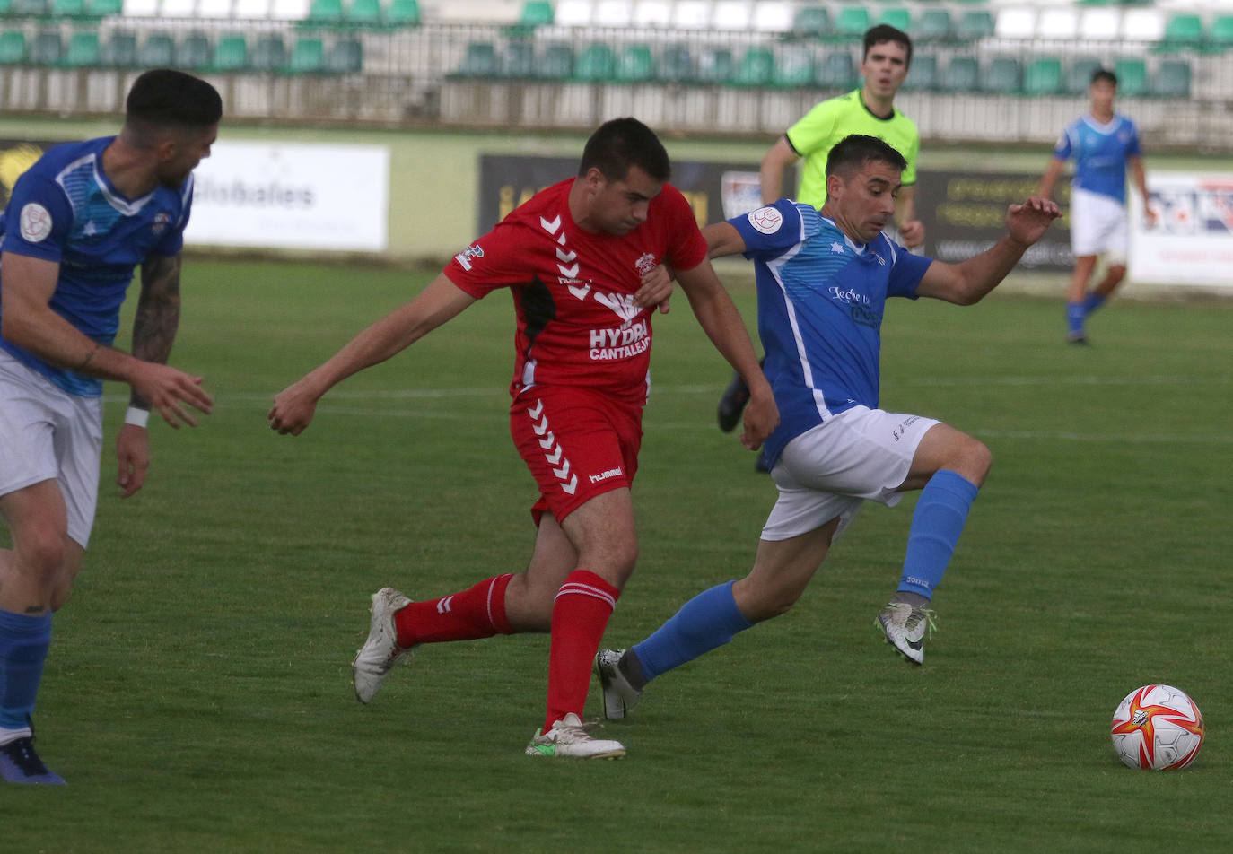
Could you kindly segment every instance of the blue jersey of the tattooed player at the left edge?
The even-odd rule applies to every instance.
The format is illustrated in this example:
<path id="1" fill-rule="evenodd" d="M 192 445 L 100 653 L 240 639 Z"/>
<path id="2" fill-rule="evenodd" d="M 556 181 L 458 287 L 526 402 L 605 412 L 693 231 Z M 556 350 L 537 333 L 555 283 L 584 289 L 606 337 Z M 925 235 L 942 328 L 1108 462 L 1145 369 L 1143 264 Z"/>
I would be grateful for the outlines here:
<path id="1" fill-rule="evenodd" d="M 49 149 L 12 190 L 0 217 L 0 250 L 60 265 L 51 307 L 88 338 L 110 346 L 133 270 L 184 246 L 192 176 L 179 189 L 125 198 L 102 173 L 115 137 Z M 99 397 L 102 381 L 49 365 L 0 339 L 0 348 L 70 394 Z"/>

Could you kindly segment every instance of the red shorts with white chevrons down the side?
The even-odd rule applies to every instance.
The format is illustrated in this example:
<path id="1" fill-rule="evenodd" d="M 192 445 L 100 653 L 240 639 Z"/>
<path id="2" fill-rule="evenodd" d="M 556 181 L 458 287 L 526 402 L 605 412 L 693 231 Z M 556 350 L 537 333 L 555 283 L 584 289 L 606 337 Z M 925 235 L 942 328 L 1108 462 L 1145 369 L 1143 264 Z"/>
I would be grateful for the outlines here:
<path id="1" fill-rule="evenodd" d="M 596 495 L 634 482 L 642 405 L 533 386 L 509 408 L 509 434 L 540 488 L 535 524 L 545 511 L 561 521 Z"/>

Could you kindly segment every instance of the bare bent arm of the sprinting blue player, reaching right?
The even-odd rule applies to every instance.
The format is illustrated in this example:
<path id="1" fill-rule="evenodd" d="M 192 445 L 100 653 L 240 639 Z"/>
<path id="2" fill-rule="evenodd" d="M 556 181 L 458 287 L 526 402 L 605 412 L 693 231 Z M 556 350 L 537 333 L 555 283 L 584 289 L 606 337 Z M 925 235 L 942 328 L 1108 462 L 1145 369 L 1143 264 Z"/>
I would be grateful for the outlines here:
<path id="1" fill-rule="evenodd" d="M 1062 216 L 1058 206 L 1037 196 L 1006 212 L 1006 235 L 988 250 L 962 264 L 930 264 L 916 293 L 970 306 L 993 291 L 1018 264 L 1027 248 L 1041 239 L 1049 224 Z"/>

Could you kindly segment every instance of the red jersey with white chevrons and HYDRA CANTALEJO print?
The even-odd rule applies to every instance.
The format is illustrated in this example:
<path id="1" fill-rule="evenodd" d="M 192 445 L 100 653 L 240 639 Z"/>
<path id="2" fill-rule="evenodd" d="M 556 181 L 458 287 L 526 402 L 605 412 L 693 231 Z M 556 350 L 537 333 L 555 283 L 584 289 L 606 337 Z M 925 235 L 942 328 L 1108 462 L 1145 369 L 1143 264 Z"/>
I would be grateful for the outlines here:
<path id="1" fill-rule="evenodd" d="M 502 287 L 513 292 L 514 397 L 535 384 L 578 386 L 641 403 L 655 308 L 640 308 L 634 293 L 661 261 L 678 270 L 702 264 L 707 240 L 670 184 L 633 232 L 586 232 L 570 216 L 573 180 L 514 208 L 455 255 L 445 275 L 476 298 Z"/>

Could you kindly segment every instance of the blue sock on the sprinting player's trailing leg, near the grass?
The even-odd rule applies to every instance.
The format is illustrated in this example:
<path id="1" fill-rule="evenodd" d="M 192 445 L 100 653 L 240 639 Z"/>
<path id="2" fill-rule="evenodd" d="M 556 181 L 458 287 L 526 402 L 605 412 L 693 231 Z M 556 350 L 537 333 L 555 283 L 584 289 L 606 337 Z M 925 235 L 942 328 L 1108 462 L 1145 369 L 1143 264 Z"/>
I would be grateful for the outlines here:
<path id="1" fill-rule="evenodd" d="M 736 599 L 732 598 L 735 583 L 726 582 L 703 590 L 650 637 L 634 646 L 634 654 L 647 681 L 724 646 L 736 632 L 753 625 L 736 608 Z"/>

